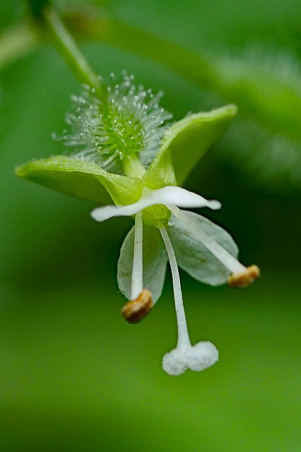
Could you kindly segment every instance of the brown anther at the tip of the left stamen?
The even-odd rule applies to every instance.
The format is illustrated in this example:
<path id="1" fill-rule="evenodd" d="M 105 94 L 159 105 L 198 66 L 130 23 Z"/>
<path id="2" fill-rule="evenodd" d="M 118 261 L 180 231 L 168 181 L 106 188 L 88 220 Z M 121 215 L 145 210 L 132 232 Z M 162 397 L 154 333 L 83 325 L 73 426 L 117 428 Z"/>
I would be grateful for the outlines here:
<path id="1" fill-rule="evenodd" d="M 122 315 L 129 323 L 139 323 L 151 311 L 152 307 L 152 294 L 148 289 L 143 289 L 136 299 L 124 304 Z"/>

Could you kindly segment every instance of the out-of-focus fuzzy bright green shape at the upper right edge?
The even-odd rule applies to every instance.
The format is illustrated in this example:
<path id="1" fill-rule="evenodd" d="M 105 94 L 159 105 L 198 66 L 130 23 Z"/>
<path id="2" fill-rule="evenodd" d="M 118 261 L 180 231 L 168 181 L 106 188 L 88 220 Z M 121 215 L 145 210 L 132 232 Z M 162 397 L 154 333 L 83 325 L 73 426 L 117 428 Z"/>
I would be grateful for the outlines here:
<path id="1" fill-rule="evenodd" d="M 271 133 L 301 142 L 301 69 L 293 55 L 257 46 L 216 64 L 225 91 L 249 117 Z"/>

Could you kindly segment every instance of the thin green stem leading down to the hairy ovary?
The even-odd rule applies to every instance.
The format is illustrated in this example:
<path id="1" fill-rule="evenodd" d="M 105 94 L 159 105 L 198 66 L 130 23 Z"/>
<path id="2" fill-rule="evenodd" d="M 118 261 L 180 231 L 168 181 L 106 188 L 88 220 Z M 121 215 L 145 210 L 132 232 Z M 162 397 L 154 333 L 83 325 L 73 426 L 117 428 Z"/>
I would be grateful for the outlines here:
<path id="1" fill-rule="evenodd" d="M 97 95 L 100 100 L 104 100 L 107 96 L 107 90 L 105 90 L 105 87 L 100 83 L 98 76 L 78 49 L 76 42 L 66 30 L 64 23 L 61 21 L 56 11 L 52 8 L 47 8 L 43 15 L 58 52 L 64 58 L 76 78 L 78 78 L 78 81 L 94 88 L 95 95 Z"/>

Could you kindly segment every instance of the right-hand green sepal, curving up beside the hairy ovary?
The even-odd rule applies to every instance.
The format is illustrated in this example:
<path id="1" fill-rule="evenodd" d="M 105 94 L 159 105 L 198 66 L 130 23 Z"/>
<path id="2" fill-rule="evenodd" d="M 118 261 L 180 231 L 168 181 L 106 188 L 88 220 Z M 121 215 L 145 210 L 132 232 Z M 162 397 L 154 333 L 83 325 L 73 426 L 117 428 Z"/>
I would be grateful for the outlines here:
<path id="1" fill-rule="evenodd" d="M 173 124 L 143 180 L 151 189 L 182 185 L 189 172 L 228 128 L 237 113 L 235 105 L 191 114 Z"/>

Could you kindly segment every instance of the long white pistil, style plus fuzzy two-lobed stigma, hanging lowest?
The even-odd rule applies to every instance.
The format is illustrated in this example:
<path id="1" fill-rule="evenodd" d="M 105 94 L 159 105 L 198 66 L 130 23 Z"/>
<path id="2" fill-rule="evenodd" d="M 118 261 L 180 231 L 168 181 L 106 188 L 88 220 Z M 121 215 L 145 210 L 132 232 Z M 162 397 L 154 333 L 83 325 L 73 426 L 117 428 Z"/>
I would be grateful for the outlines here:
<path id="1" fill-rule="evenodd" d="M 175 251 L 165 228 L 161 228 L 160 232 L 165 243 L 165 248 L 170 261 L 170 269 L 172 271 L 172 284 L 175 295 L 178 329 L 177 347 L 164 355 L 163 369 L 170 375 L 183 374 L 187 369 L 202 371 L 211 367 L 218 360 L 218 350 L 215 345 L 210 342 L 200 342 L 196 345 L 191 345 Z"/>

